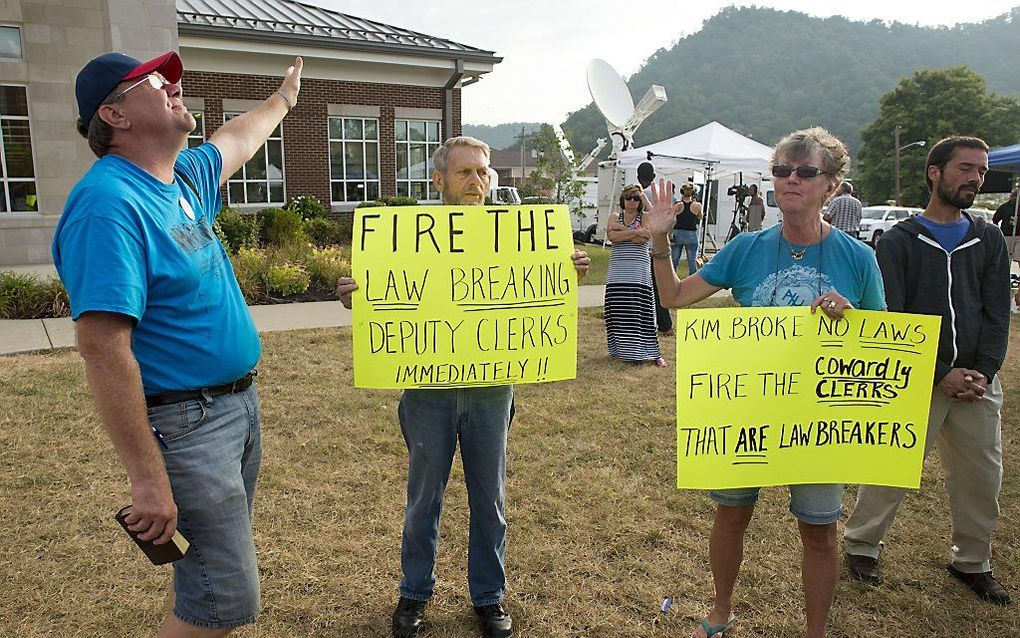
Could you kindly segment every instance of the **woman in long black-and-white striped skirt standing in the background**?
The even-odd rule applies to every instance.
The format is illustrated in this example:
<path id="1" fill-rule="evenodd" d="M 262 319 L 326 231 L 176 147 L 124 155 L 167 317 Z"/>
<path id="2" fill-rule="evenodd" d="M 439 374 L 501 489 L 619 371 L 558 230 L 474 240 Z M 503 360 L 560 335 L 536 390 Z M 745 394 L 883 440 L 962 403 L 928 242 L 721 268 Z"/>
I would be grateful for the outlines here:
<path id="1" fill-rule="evenodd" d="M 640 363 L 666 360 L 656 335 L 655 291 L 648 243 L 652 234 L 642 228 L 641 187 L 631 184 L 620 193 L 620 211 L 610 215 L 606 234 L 613 242 L 606 278 L 606 341 L 609 356 Z"/>

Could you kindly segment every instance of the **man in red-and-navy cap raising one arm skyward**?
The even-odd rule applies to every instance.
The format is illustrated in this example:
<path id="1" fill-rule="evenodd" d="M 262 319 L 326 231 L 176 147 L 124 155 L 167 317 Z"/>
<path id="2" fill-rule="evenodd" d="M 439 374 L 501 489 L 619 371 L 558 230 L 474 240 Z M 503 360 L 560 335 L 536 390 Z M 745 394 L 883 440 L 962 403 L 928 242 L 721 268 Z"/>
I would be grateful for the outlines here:
<path id="1" fill-rule="evenodd" d="M 195 118 L 173 51 L 106 53 L 79 72 L 78 130 L 99 157 L 67 198 L 53 261 L 79 352 L 131 480 L 125 523 L 190 549 L 173 566 L 160 636 L 223 636 L 255 620 L 251 516 L 261 459 L 258 335 L 212 231 L 219 187 L 296 103 L 301 58 L 279 90 L 181 151 Z"/>

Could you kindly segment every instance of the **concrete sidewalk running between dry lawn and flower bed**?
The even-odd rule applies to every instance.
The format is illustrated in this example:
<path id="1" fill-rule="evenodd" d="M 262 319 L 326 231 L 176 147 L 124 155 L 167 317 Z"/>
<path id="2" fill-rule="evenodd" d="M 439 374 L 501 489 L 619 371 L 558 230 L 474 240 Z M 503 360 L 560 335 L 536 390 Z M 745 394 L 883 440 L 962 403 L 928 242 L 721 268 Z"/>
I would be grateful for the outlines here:
<path id="1" fill-rule="evenodd" d="M 605 286 L 581 286 L 577 307 L 602 305 Z M 339 301 L 280 303 L 248 306 L 260 333 L 351 325 L 351 311 Z M 0 320 L 0 354 L 18 354 L 74 347 L 74 324 L 70 317 L 49 320 Z"/>

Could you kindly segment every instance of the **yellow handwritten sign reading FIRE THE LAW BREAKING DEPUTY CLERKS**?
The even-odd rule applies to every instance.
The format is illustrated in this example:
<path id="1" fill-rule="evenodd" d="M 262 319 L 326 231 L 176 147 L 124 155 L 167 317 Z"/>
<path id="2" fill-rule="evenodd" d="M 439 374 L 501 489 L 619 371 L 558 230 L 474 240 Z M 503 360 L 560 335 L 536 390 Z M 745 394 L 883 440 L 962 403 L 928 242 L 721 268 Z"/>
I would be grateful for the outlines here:
<path id="1" fill-rule="evenodd" d="M 577 374 L 565 206 L 358 208 L 354 383 L 455 388 Z"/>

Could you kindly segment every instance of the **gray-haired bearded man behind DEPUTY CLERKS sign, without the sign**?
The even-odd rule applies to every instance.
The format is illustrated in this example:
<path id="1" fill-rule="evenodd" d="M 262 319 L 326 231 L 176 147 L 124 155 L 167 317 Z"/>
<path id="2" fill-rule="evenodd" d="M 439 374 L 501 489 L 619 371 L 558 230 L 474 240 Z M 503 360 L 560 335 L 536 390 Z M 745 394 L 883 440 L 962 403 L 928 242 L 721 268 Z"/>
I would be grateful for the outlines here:
<path id="1" fill-rule="evenodd" d="M 480 205 L 489 193 L 489 146 L 470 137 L 451 138 L 432 156 L 432 183 L 447 205 Z M 575 250 L 578 279 L 588 273 L 588 254 Z M 340 300 L 351 307 L 358 286 L 340 280 Z M 513 632 L 503 605 L 507 523 L 507 435 L 514 412 L 513 386 L 406 390 L 397 416 L 407 443 L 407 509 L 401 546 L 400 600 L 393 614 L 393 636 L 408 638 L 421 629 L 425 603 L 436 586 L 437 541 L 443 495 L 460 443 L 470 509 L 467 584 L 486 638 Z"/>

